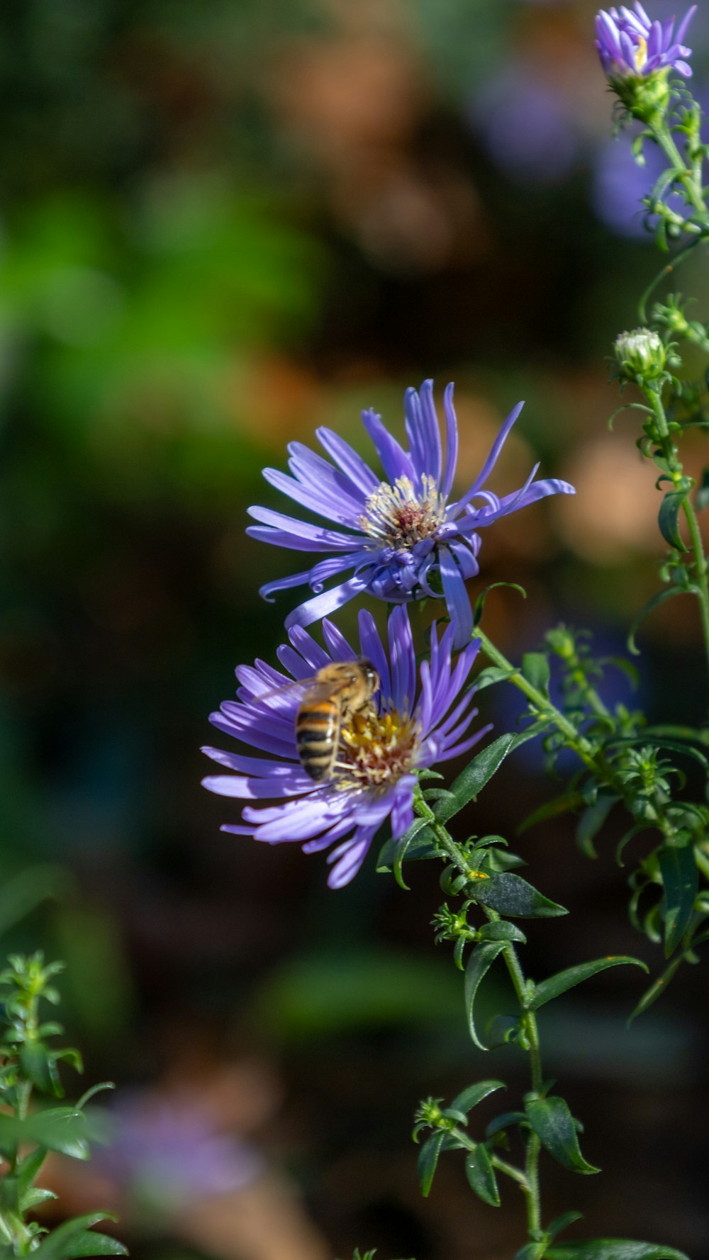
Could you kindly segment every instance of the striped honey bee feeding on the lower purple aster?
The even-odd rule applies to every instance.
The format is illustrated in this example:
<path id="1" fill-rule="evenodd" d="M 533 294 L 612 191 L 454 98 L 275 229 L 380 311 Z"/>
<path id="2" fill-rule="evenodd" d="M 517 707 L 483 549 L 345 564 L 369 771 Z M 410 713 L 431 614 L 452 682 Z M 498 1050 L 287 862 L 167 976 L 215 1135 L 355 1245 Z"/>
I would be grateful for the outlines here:
<path id="1" fill-rule="evenodd" d="M 295 743 L 300 765 L 315 782 L 332 775 L 342 723 L 366 708 L 380 685 L 370 660 L 333 660 L 307 683 L 295 716 Z"/>

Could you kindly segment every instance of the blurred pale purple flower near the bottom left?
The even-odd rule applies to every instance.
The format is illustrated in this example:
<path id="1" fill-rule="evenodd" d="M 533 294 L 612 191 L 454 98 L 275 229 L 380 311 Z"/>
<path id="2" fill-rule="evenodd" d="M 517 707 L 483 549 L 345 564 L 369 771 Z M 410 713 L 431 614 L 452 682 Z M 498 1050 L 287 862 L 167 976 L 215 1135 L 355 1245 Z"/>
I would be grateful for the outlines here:
<path id="1" fill-rule="evenodd" d="M 196 1198 L 241 1189 L 262 1169 L 260 1157 L 231 1134 L 214 1133 L 188 1099 L 126 1096 L 112 1113 L 110 1147 L 97 1150 L 101 1172 L 154 1207 L 184 1207 Z"/>

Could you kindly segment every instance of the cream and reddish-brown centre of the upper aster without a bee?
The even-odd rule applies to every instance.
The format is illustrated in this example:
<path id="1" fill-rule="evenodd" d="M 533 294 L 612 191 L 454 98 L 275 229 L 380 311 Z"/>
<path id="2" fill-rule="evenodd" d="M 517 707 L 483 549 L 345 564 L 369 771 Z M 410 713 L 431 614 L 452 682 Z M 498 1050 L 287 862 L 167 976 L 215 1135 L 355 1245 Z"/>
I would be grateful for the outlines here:
<path id="1" fill-rule="evenodd" d="M 439 494 L 435 479 L 424 472 L 418 494 L 407 476 L 397 478 L 394 485 L 380 481 L 365 509 L 360 528 L 370 536 L 370 546 L 401 551 L 435 534 L 445 517 L 445 496 Z"/>

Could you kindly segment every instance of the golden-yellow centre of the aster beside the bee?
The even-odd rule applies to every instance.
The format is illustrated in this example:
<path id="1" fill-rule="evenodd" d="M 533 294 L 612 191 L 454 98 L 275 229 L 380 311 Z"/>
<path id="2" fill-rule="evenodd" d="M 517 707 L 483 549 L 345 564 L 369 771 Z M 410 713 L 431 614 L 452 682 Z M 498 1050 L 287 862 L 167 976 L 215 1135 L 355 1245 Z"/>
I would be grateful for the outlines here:
<path id="1" fill-rule="evenodd" d="M 414 769 L 420 728 L 409 713 L 377 713 L 373 704 L 352 714 L 341 732 L 338 788 L 387 788 Z"/>

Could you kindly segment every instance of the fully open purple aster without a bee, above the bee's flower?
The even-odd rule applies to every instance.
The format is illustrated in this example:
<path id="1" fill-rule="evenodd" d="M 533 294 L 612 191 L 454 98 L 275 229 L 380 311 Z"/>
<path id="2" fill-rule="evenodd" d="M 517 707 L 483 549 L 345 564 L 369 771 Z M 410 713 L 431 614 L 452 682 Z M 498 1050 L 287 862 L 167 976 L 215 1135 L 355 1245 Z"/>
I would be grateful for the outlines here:
<path id="1" fill-rule="evenodd" d="M 450 498 L 458 455 L 452 384 L 444 394 L 445 457 L 433 381 L 424 381 L 420 393 L 406 391 L 407 451 L 387 432 L 380 416 L 362 412 L 386 480 L 329 428 L 319 428 L 317 436 L 332 462 L 302 442 L 291 442 L 288 450 L 293 476 L 265 469 L 266 481 L 338 528 L 309 524 L 269 508 L 249 509 L 261 522 L 249 527 L 254 538 L 294 551 L 332 553 L 304 572 L 261 587 L 265 598 L 304 583 L 317 592 L 286 617 L 286 627 L 310 625 L 362 591 L 389 604 L 443 596 L 455 625 L 455 646 L 468 643 L 473 615 L 466 578 L 479 572 L 478 530 L 549 494 L 574 494 L 566 481 L 535 481 L 539 464 L 513 494 L 498 498 L 484 489 L 522 406 L 517 403 L 507 416 L 479 475 L 460 499 Z M 351 577 L 323 590 L 328 578 L 347 570 L 353 570 Z"/>

